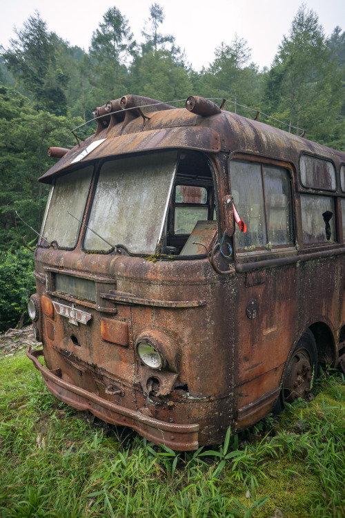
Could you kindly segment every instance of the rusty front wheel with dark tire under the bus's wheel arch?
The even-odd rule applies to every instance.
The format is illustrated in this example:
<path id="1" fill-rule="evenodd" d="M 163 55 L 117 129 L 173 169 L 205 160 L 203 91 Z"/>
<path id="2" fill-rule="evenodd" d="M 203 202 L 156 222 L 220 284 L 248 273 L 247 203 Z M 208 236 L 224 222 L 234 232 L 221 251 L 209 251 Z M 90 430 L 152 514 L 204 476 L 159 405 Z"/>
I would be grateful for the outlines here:
<path id="1" fill-rule="evenodd" d="M 315 338 L 310 329 L 302 334 L 284 370 L 282 390 L 273 408 L 280 414 L 285 403 L 301 397 L 308 400 L 313 381 L 317 377 L 318 356 Z"/>

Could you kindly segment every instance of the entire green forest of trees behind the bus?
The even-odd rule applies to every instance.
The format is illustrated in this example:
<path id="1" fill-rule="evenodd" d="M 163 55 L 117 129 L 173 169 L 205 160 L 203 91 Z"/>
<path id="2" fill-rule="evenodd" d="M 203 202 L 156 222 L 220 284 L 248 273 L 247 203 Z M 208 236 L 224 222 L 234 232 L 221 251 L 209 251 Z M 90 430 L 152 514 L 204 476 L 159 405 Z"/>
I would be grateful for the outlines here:
<path id="1" fill-rule="evenodd" d="M 173 35 L 162 34 L 164 9 L 153 3 L 141 41 L 114 6 L 95 27 L 88 51 L 49 32 L 39 12 L 0 48 L 0 331 L 23 323 L 34 278 L 30 227 L 39 231 L 48 189 L 38 178 L 50 168 L 49 146 L 75 146 L 70 133 L 92 111 L 126 94 L 172 102 L 189 95 L 227 99 L 225 108 L 345 151 L 345 32 L 326 35 L 305 4 L 282 35 L 270 68 L 251 61 L 235 34 L 214 50 L 207 67 L 193 70 Z M 218 101 L 215 101 L 218 102 Z M 177 104 L 177 106 L 179 106 Z M 183 106 L 183 104 L 181 104 Z M 244 106 L 251 108 L 244 108 Z M 276 119 L 276 120 L 273 120 Z M 277 122 L 281 121 L 281 122 Z M 77 129 L 83 139 L 95 122 Z M 18 216 L 18 215 L 19 216 Z"/>

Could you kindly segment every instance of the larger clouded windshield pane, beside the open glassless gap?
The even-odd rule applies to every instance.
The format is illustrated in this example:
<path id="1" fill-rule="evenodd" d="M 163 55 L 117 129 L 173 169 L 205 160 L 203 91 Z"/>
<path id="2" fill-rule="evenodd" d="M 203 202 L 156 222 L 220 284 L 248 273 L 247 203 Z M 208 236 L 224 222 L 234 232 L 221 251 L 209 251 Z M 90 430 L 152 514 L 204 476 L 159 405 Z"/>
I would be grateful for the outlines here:
<path id="1" fill-rule="evenodd" d="M 177 151 L 109 160 L 101 166 L 83 247 L 155 253 L 164 234 Z M 105 240 L 99 238 L 97 232 Z"/>

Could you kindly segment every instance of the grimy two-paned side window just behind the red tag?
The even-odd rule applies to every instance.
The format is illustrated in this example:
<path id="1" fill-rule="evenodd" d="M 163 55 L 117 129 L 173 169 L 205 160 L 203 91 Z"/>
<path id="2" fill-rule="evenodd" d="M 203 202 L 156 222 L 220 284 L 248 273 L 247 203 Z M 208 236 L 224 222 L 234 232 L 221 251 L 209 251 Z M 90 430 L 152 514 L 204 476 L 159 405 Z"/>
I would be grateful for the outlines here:
<path id="1" fill-rule="evenodd" d="M 288 170 L 257 162 L 230 162 L 235 206 L 246 233 L 235 233 L 236 248 L 251 250 L 292 244 L 292 210 Z"/>

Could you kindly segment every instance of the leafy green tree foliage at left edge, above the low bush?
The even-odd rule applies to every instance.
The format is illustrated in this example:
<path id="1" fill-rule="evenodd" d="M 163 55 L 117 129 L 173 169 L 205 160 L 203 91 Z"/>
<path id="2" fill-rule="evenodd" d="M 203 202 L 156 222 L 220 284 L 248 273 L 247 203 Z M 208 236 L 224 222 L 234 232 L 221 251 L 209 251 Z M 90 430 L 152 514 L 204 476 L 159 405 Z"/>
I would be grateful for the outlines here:
<path id="1" fill-rule="evenodd" d="M 24 234 L 34 238 L 15 211 L 39 230 L 48 187 L 37 179 L 54 163 L 47 149 L 75 145 L 68 130 L 82 122 L 37 112 L 28 97 L 0 86 L 0 251 L 17 248 Z"/>

